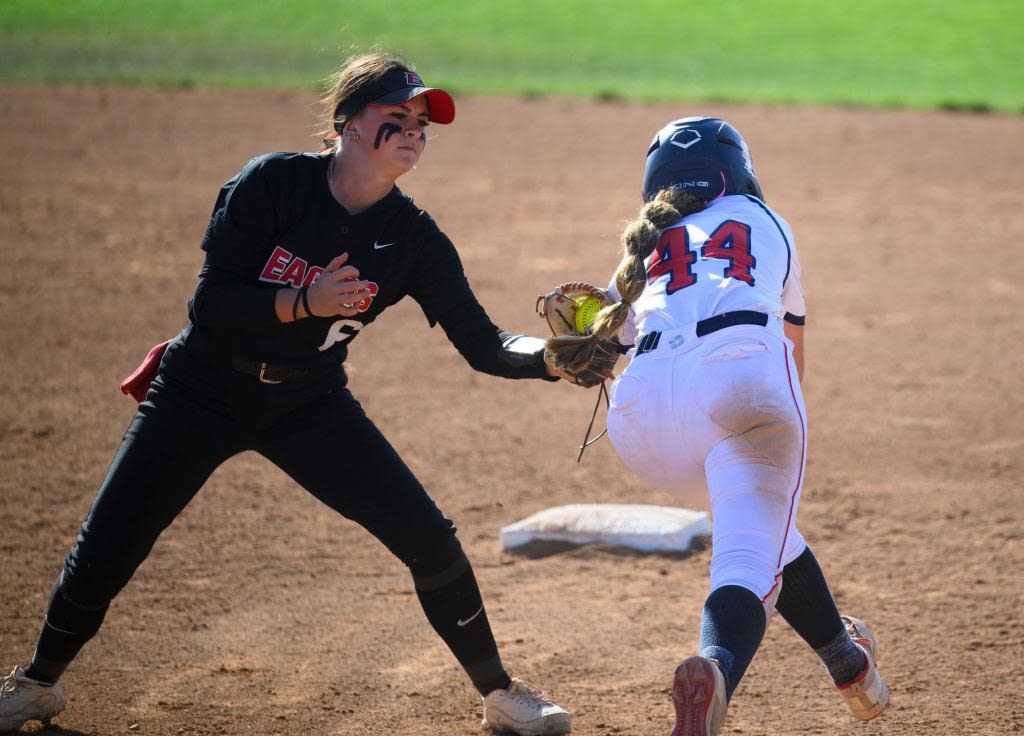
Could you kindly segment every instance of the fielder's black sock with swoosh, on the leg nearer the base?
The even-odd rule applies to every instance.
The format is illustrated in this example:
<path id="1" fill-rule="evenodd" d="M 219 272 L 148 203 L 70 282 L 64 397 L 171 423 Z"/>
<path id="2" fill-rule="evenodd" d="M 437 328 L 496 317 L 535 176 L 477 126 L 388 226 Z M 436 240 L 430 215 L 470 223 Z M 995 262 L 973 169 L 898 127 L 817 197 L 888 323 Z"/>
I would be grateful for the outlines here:
<path id="1" fill-rule="evenodd" d="M 480 589 L 466 556 L 460 555 L 441 572 L 414 574 L 413 581 L 427 620 L 480 694 L 508 688 L 511 680 L 502 666 Z"/>

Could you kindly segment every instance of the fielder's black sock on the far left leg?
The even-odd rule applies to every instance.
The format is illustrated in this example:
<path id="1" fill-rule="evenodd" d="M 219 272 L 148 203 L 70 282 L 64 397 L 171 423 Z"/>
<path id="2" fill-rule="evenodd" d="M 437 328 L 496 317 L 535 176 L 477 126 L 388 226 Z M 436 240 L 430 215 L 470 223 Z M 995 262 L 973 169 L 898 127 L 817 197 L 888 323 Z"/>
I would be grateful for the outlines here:
<path id="1" fill-rule="evenodd" d="M 106 615 L 110 603 L 97 608 L 79 605 L 63 593 L 63 574 L 53 586 L 36 652 L 25 668 L 27 677 L 52 685 L 63 674 L 85 643 L 92 639 Z"/>

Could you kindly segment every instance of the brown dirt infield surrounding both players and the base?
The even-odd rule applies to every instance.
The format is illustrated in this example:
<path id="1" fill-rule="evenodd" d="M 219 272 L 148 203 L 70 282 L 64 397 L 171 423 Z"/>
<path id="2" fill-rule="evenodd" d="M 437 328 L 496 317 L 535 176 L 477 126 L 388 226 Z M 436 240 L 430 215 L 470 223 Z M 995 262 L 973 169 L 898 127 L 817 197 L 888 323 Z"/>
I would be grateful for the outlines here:
<path id="1" fill-rule="evenodd" d="M 893 708 L 857 724 L 773 621 L 725 733 L 1024 731 L 1024 118 L 461 98 L 403 188 L 459 246 L 504 328 L 537 294 L 604 283 L 663 123 L 748 138 L 793 224 L 808 296 L 800 526 L 868 620 Z M 312 145 L 312 95 L 0 88 L 0 665 L 24 661 L 134 404 L 118 383 L 173 335 L 216 191 Z M 607 441 L 593 393 L 473 373 L 413 302 L 353 344 L 351 387 L 474 561 L 506 664 L 578 734 L 671 730 L 709 551 L 498 550 L 574 502 L 668 504 Z M 325 459 L 331 462 L 332 459 Z M 220 471 L 65 678 L 63 734 L 475 734 L 479 701 L 404 568 L 262 459 Z"/>

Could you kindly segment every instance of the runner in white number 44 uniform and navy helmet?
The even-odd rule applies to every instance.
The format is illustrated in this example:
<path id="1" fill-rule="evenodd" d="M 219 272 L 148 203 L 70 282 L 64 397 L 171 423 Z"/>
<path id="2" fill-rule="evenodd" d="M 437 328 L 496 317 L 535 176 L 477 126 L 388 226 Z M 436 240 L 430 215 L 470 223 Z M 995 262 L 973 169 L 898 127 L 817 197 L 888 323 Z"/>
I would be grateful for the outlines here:
<path id="1" fill-rule="evenodd" d="M 742 137 L 719 119 L 659 131 L 643 194 L 609 287 L 616 304 L 589 340 L 633 345 L 607 421 L 623 461 L 712 513 L 700 656 L 676 670 L 673 736 L 718 733 L 776 608 L 870 720 L 889 697 L 874 637 L 840 616 L 796 525 L 807 423 L 793 232 L 765 205 Z"/>

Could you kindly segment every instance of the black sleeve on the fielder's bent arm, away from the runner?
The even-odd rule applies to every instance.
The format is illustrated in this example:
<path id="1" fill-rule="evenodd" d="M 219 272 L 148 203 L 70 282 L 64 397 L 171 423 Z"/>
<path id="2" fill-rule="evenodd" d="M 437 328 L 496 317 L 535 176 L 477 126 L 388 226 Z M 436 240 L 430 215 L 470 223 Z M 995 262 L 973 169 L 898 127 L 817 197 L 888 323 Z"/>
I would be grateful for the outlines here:
<path id="1" fill-rule="evenodd" d="M 280 231 L 278 208 L 263 172 L 265 157 L 250 161 L 223 185 L 203 236 L 206 262 L 190 311 L 212 329 L 280 326 L 278 289 L 253 284 L 269 244 Z"/>

